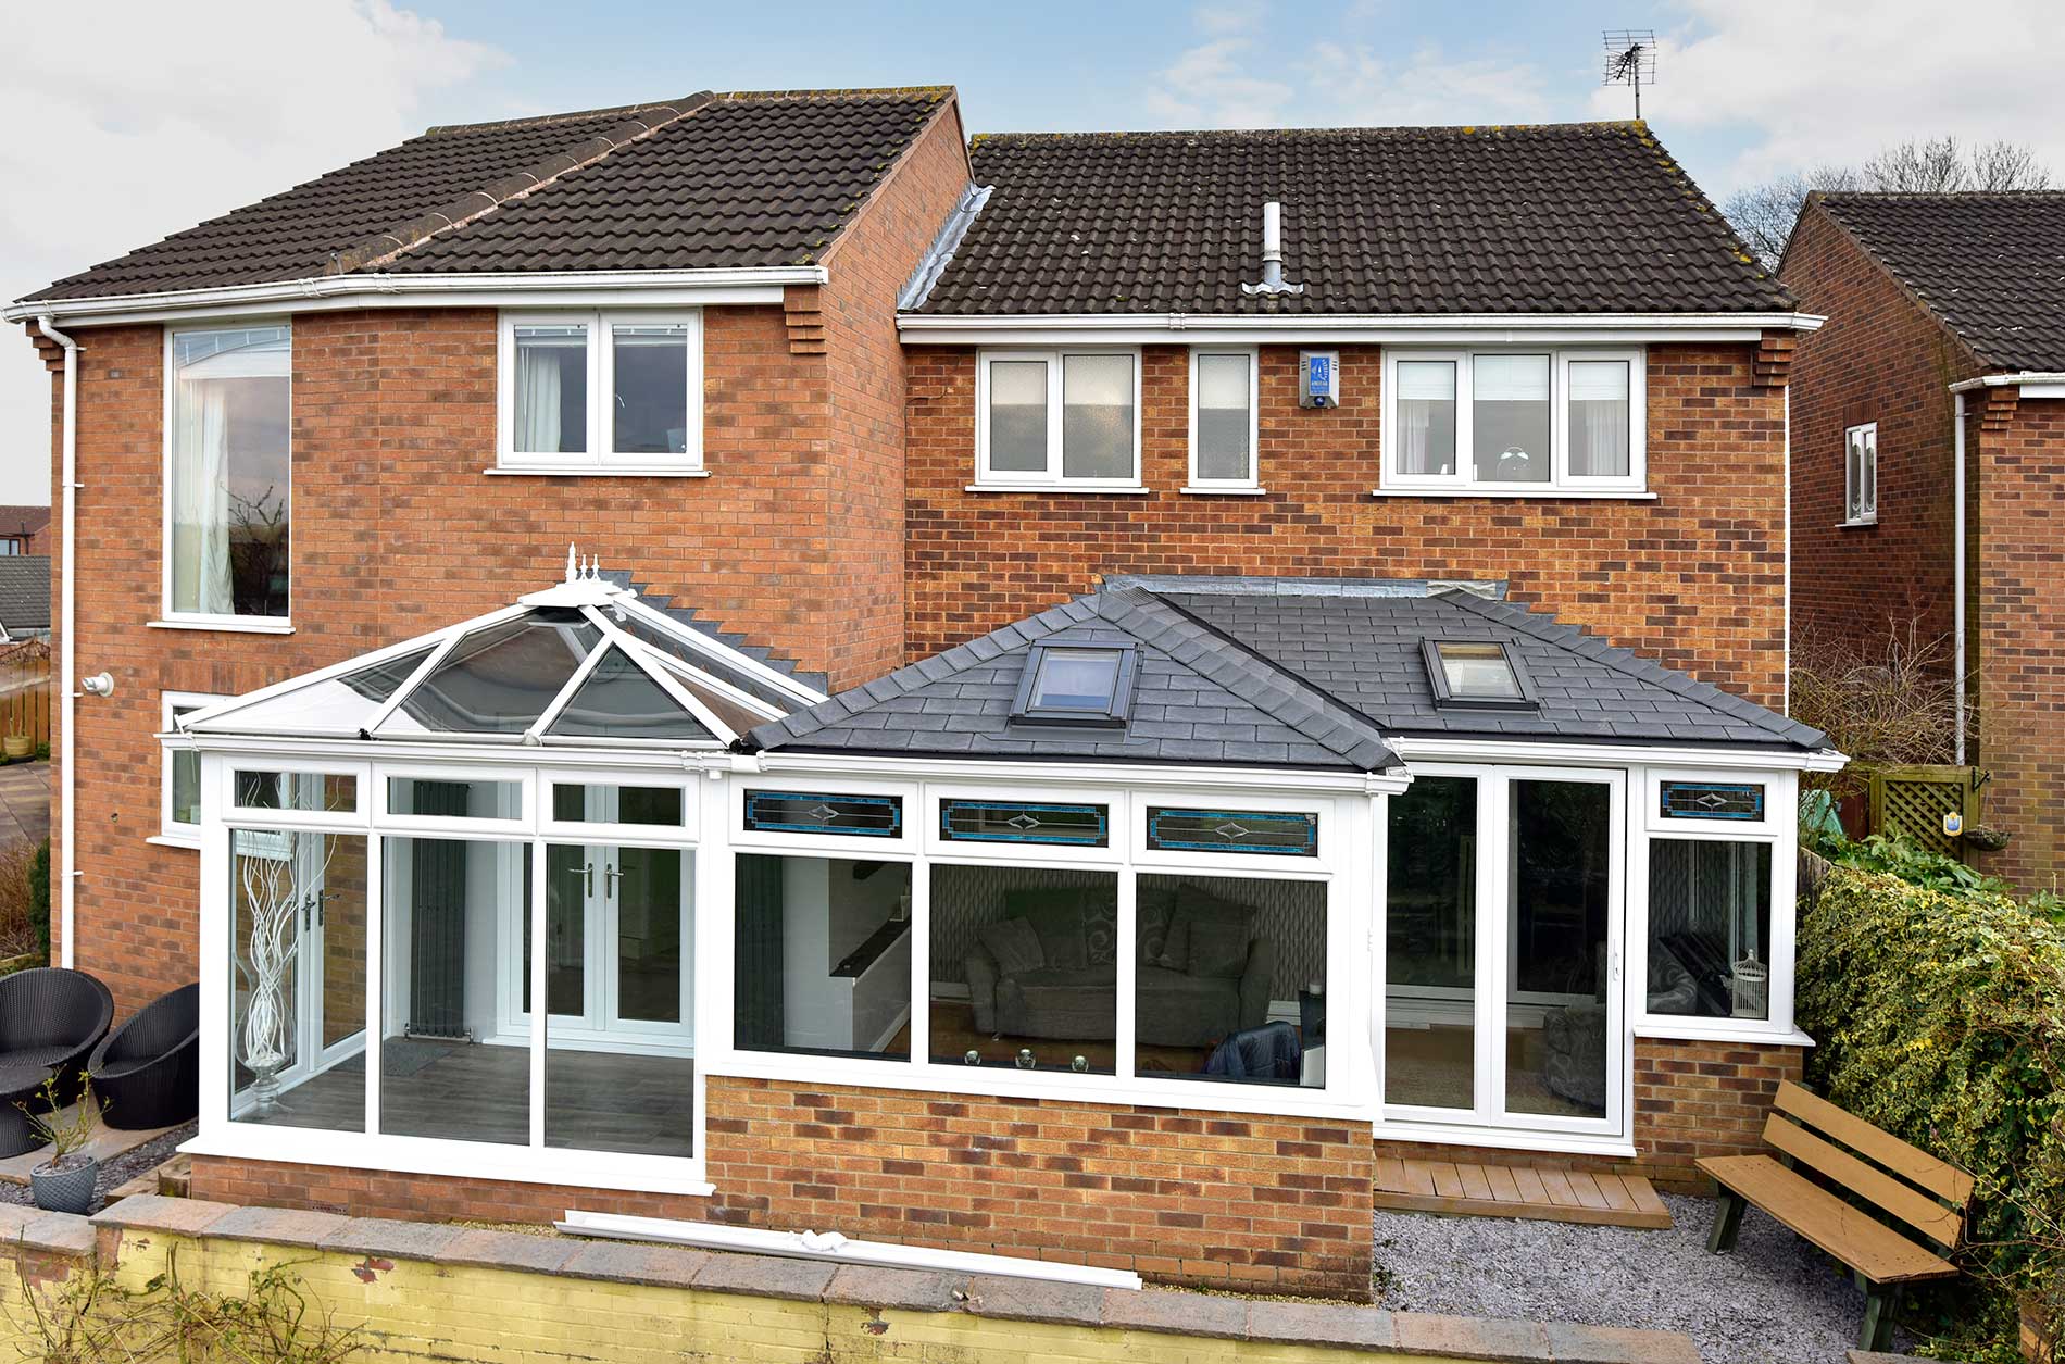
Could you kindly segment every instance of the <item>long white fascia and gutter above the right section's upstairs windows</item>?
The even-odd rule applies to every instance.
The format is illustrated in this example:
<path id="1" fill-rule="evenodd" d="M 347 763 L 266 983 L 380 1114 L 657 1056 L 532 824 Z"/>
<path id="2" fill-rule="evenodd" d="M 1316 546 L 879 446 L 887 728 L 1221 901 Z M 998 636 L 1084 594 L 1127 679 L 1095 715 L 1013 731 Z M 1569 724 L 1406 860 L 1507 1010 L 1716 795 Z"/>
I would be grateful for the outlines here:
<path id="1" fill-rule="evenodd" d="M 1253 345 L 1412 343 L 1534 345 L 1627 340 L 1757 340 L 1766 330 L 1813 332 L 1815 314 L 904 314 L 904 345 Z"/>

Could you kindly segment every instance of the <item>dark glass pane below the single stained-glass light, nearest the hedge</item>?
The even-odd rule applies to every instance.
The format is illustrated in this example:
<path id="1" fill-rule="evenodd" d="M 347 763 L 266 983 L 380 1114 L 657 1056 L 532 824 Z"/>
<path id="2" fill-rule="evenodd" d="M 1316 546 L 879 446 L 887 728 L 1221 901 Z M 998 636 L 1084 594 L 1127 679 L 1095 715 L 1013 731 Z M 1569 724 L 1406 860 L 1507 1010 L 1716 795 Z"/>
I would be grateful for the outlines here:
<path id="1" fill-rule="evenodd" d="M 1772 846 L 1650 840 L 1650 1013 L 1772 1015 Z"/>

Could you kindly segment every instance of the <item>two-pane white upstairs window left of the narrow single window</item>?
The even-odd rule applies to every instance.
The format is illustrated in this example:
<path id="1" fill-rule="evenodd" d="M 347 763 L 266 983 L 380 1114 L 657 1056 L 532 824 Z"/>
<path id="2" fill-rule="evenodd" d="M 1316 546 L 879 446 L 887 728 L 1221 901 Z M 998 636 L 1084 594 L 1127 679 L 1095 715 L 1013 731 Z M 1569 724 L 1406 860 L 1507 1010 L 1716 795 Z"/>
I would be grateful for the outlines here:
<path id="1" fill-rule="evenodd" d="M 983 351 L 979 487 L 1140 489 L 1140 351 Z"/>

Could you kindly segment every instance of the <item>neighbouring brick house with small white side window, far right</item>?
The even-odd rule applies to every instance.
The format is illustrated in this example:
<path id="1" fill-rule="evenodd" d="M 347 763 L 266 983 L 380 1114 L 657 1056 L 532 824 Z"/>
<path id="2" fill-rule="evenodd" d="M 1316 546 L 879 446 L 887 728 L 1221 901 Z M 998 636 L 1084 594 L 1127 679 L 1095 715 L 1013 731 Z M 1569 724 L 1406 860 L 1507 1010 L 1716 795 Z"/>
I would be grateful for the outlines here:
<path id="1" fill-rule="evenodd" d="M 1794 359 L 1792 627 L 1945 642 L 1989 871 L 2065 873 L 2065 194 L 1815 194 L 1780 274 Z"/>

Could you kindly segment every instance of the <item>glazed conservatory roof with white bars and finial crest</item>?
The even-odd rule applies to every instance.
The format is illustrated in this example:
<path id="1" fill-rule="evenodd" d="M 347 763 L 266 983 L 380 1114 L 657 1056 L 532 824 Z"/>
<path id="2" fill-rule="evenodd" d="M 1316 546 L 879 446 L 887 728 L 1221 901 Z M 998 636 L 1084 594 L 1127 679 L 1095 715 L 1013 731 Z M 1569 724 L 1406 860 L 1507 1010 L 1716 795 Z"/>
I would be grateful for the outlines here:
<path id="1" fill-rule="evenodd" d="M 824 700 L 568 557 L 506 611 L 196 710 L 192 735 L 721 747 Z"/>

